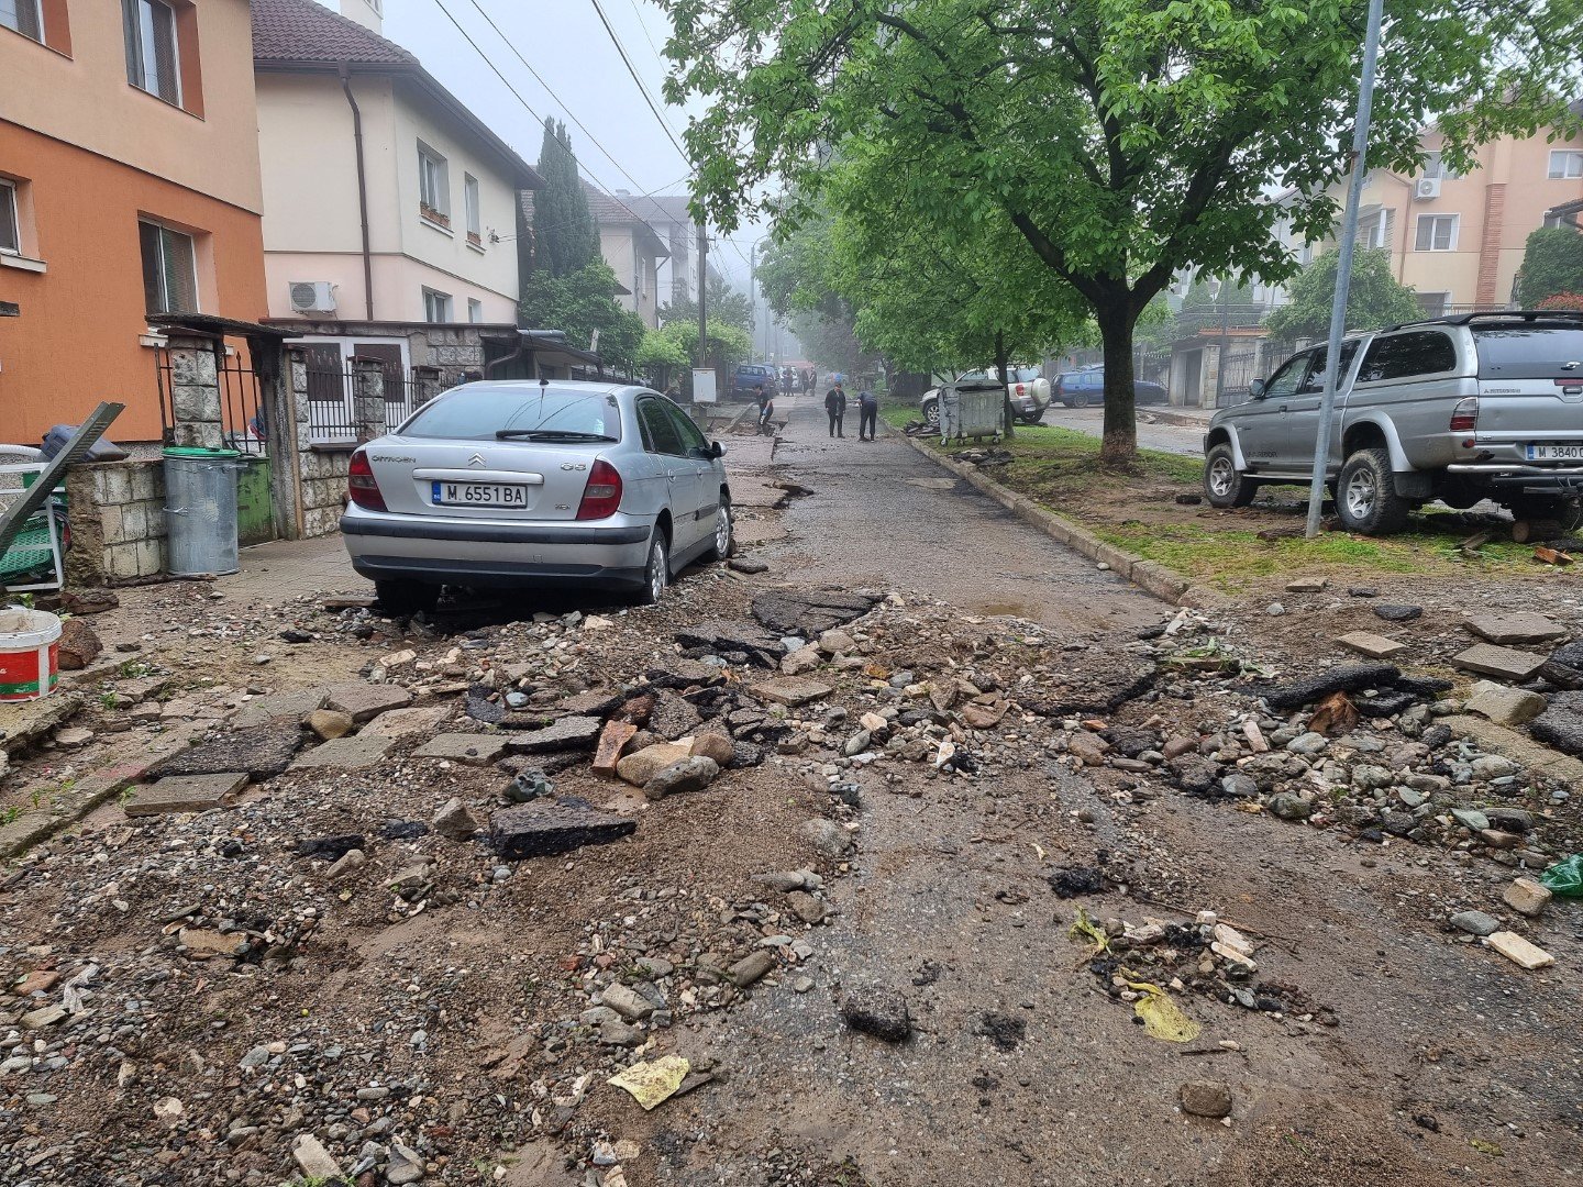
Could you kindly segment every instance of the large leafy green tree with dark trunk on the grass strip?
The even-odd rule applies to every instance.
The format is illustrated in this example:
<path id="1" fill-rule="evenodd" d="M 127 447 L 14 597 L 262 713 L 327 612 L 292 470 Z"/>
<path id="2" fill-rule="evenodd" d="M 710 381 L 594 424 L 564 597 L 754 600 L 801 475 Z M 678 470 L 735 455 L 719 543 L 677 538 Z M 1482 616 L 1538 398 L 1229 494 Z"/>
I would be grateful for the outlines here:
<path id="1" fill-rule="evenodd" d="M 1137 449 L 1132 339 L 1173 274 L 1279 282 L 1273 234 L 1322 237 L 1347 171 L 1366 0 L 662 0 L 697 192 L 735 229 L 771 177 L 864 173 L 947 260 L 1019 236 L 1092 313 L 1110 462 Z M 1442 116 L 1445 160 L 1540 125 L 1570 130 L 1583 0 L 1391 3 L 1368 166 L 1412 173 Z M 1295 192 L 1266 201 L 1273 184 Z M 837 214 L 874 190 L 841 196 Z M 977 228 L 964 237 L 964 228 Z"/>

